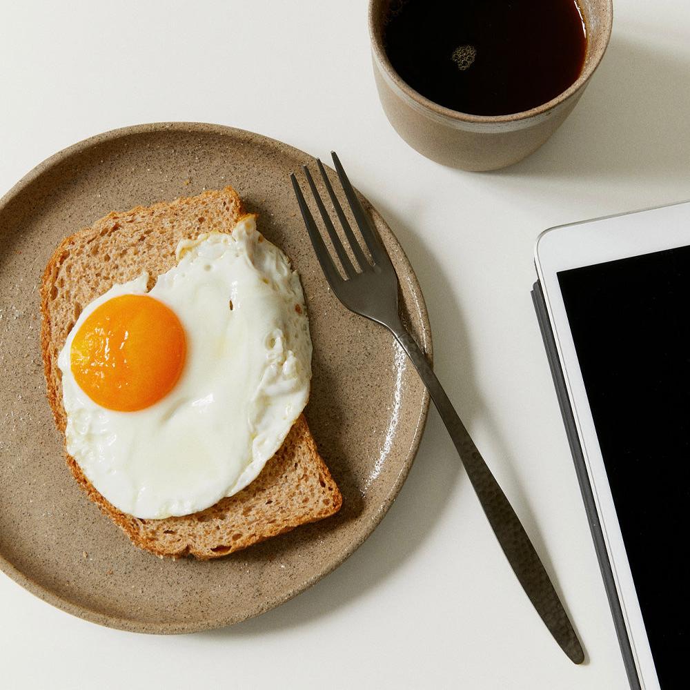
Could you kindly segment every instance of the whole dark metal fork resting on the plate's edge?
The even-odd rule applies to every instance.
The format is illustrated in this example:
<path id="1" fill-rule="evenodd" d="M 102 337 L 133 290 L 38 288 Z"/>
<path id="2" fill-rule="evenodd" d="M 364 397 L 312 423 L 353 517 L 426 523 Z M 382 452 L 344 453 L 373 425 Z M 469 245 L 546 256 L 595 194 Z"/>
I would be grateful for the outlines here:
<path id="1" fill-rule="evenodd" d="M 433 372 L 431 364 L 429 364 L 411 333 L 403 326 L 398 313 L 398 280 L 391 258 L 388 256 L 388 252 L 383 246 L 371 219 L 362 207 L 362 204 L 359 203 L 357 194 L 350 184 L 339 158 L 335 152 L 331 152 L 331 155 L 333 156 L 337 177 L 359 228 L 359 233 L 364 240 L 364 246 L 355 237 L 355 233 L 335 195 L 322 162 L 317 159 L 316 163 L 328 192 L 328 197 L 331 199 L 335 215 L 338 217 L 351 254 L 355 259 L 354 263 L 335 230 L 333 221 L 330 215 L 328 215 L 321 195 L 319 195 L 311 172 L 309 172 L 307 166 L 302 166 L 302 169 L 345 277 L 341 275 L 331 257 L 331 253 L 326 248 L 324 238 L 304 199 L 295 173 L 290 173 L 299 210 L 302 212 L 302 218 L 309 233 L 311 244 L 324 271 L 326 280 L 335 296 L 350 311 L 388 328 L 388 331 L 391 331 L 393 337 L 402 346 L 411 362 L 415 365 L 415 368 L 417 368 L 417 372 L 422 378 L 441 419 L 451 435 L 455 449 L 457 449 L 457 453 L 460 455 L 460 460 L 464 464 L 482 509 L 517 576 L 517 580 L 522 584 L 529 600 L 541 616 L 553 638 L 555 638 L 556 642 L 575 664 L 580 664 L 584 661 L 582 645 L 558 598 L 558 594 L 553 588 L 553 584 L 551 584 L 549 575 L 546 573 L 532 542 L 529 540 L 524 527 L 515 514 L 513 506 L 506 498 L 489 467 L 486 466 L 486 462 L 484 462 L 481 453 L 477 450 L 477 446 L 475 446 L 460 417 L 455 412 L 455 408 L 453 408 L 451 401 Z M 368 250 L 371 259 L 367 257 L 365 248 Z"/>

